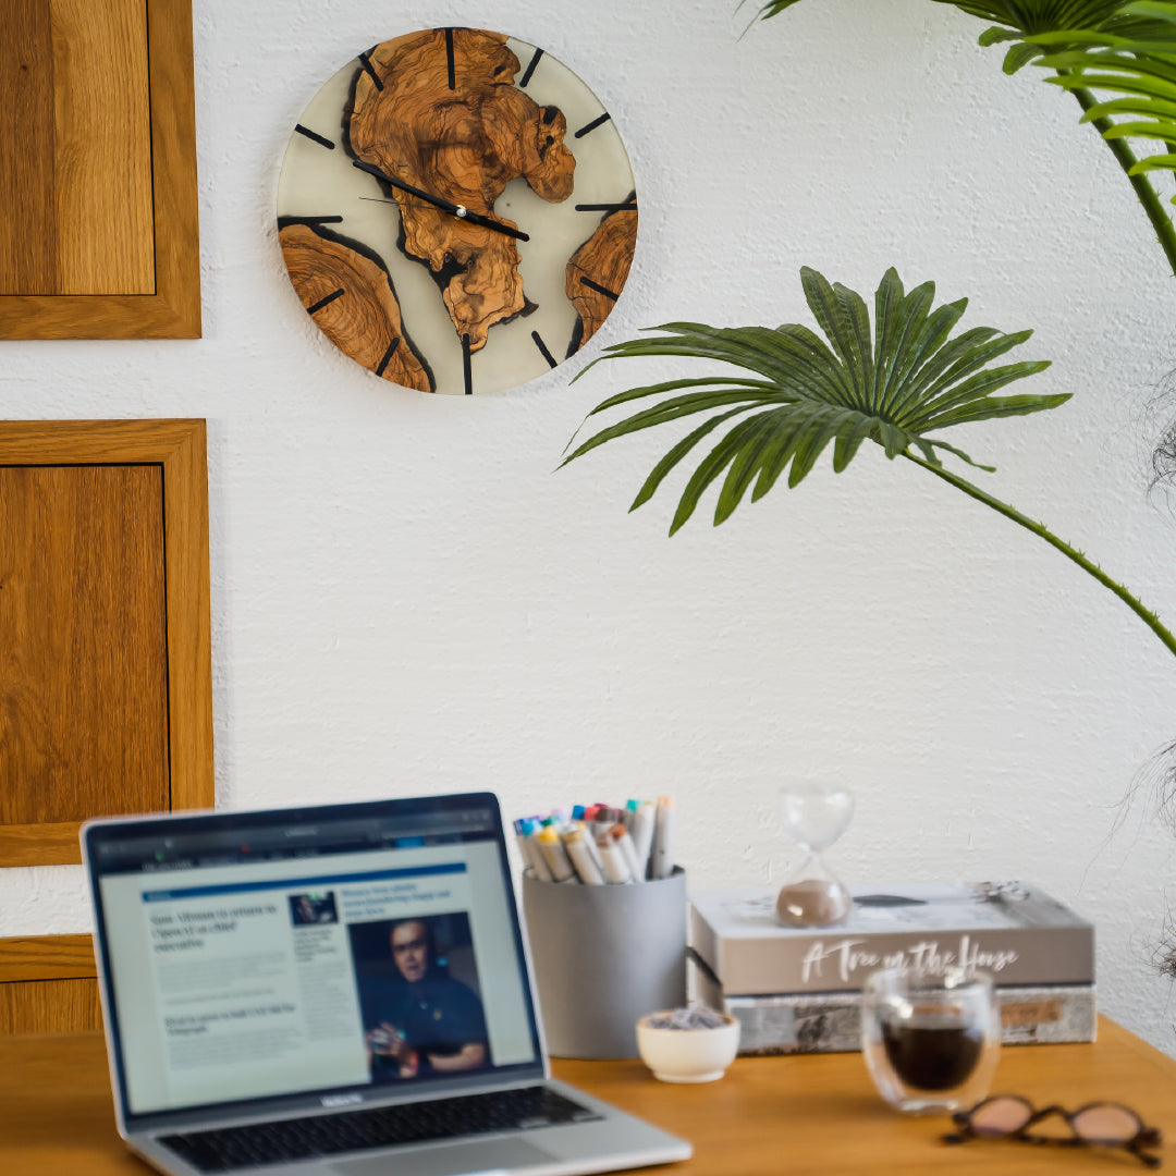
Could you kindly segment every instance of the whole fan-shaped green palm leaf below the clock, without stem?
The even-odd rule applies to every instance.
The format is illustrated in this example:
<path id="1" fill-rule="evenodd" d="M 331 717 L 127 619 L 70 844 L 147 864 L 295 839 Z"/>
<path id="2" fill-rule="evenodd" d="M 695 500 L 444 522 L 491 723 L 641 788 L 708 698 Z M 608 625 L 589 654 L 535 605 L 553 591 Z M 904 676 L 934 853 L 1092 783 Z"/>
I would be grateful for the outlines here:
<path id="1" fill-rule="evenodd" d="M 1023 343 L 1030 332 L 1001 334 L 980 327 L 950 339 L 967 302 L 931 309 L 935 287 L 930 282 L 907 293 L 898 274 L 888 270 L 874 298 L 871 323 L 866 301 L 854 290 L 827 281 L 815 269 L 801 270 L 801 280 L 824 340 L 799 323 L 771 330 L 674 322 L 656 328 L 662 333 L 656 338 L 609 347 L 597 363 L 604 359 L 680 356 L 717 360 L 747 374 L 669 380 L 612 396 L 589 415 L 637 401 L 654 403 L 582 441 L 564 463 L 607 441 L 707 414 L 702 425 L 657 462 L 634 500 L 630 509 L 635 509 L 649 501 L 702 441 L 727 426 L 690 475 L 670 527 L 673 534 L 720 479 L 716 524 L 730 516 L 749 489 L 753 501 L 761 499 L 786 469 L 788 485 L 797 486 L 830 443 L 837 472 L 849 465 L 863 441 L 881 446 L 891 459 L 917 450 L 937 466 L 938 452 L 944 450 L 976 465 L 927 434 L 964 421 L 1056 408 L 1069 400 L 1067 394 L 994 395 L 1013 381 L 1041 372 L 1048 361 L 990 367 L 993 360 Z"/>

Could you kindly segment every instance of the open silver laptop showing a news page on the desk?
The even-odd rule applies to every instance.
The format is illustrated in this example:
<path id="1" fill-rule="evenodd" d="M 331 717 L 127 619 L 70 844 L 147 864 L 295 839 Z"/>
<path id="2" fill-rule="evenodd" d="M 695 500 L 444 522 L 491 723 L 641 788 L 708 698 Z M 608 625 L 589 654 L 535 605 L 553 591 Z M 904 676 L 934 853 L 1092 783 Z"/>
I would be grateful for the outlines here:
<path id="1" fill-rule="evenodd" d="M 690 1145 L 554 1081 L 489 793 L 91 821 L 119 1132 L 172 1176 L 555 1176 Z"/>

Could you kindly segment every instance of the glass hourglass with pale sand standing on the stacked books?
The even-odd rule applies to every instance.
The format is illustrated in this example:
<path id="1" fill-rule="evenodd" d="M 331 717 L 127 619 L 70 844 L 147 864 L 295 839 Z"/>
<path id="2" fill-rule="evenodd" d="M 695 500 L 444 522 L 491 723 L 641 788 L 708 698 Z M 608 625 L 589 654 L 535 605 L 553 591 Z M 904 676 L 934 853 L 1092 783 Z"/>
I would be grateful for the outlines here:
<path id="1" fill-rule="evenodd" d="M 833 927 L 849 918 L 849 891 L 821 854 L 846 831 L 853 815 L 853 794 L 840 784 L 784 784 L 780 789 L 780 821 L 804 853 L 776 895 L 776 917 L 782 923 Z"/>

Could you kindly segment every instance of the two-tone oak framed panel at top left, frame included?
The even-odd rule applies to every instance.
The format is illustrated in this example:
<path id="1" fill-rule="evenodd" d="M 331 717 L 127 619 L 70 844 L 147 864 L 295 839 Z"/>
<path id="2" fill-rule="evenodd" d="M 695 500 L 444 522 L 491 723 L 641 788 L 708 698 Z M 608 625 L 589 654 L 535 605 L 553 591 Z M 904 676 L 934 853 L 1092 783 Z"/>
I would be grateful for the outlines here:
<path id="1" fill-rule="evenodd" d="M 0 339 L 200 335 L 191 0 L 0 5 Z"/>

